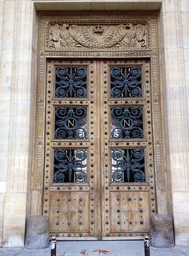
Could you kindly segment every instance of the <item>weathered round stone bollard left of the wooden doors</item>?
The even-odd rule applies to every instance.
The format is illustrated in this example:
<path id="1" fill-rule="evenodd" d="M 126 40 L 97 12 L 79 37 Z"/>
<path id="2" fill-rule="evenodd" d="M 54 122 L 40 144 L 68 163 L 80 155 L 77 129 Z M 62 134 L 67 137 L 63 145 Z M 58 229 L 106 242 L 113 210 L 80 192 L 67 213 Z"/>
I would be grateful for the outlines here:
<path id="1" fill-rule="evenodd" d="M 49 220 L 44 216 L 26 218 L 26 249 L 45 249 L 49 246 Z"/>

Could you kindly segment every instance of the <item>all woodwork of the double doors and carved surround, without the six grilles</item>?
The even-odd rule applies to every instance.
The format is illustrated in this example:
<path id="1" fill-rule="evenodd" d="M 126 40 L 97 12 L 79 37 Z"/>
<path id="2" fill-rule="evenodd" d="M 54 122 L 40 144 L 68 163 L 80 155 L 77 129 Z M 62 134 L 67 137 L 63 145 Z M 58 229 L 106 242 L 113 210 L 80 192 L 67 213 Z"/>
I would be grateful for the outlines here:
<path id="1" fill-rule="evenodd" d="M 111 37 L 118 26 L 119 35 Z M 141 238 L 149 233 L 150 217 L 157 212 L 156 194 L 159 197 L 167 189 L 158 35 L 155 12 L 39 14 L 31 213 L 50 217 L 50 235 L 87 240 Z M 86 67 L 87 97 L 55 97 L 56 67 Z M 141 67 L 143 96 L 111 98 L 111 67 Z M 60 106 L 86 107 L 86 139 L 54 139 L 54 112 Z M 115 107 L 143 109 L 142 138 L 111 138 L 111 108 Z M 86 149 L 85 183 L 54 182 L 54 150 L 58 148 Z M 116 148 L 143 148 L 145 182 L 112 181 L 111 150 Z M 42 200 L 37 201 L 36 195 Z"/>

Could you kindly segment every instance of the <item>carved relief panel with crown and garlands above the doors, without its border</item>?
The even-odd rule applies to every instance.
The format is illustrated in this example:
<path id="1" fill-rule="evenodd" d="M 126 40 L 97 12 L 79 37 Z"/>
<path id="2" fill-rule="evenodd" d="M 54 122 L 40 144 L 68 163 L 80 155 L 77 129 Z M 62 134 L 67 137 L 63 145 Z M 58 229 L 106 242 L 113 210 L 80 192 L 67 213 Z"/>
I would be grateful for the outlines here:
<path id="1" fill-rule="evenodd" d="M 147 47 L 147 26 L 127 24 L 117 26 L 78 26 L 54 24 L 50 26 L 50 49 L 106 49 Z"/>

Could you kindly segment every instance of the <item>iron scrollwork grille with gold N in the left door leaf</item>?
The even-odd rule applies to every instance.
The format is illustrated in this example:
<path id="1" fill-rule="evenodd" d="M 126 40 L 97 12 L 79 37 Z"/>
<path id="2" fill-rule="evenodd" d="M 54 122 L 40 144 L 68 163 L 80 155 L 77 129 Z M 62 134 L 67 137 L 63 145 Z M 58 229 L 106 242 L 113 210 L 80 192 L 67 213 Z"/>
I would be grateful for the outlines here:
<path id="1" fill-rule="evenodd" d="M 55 108 L 55 139 L 86 139 L 86 108 Z"/>

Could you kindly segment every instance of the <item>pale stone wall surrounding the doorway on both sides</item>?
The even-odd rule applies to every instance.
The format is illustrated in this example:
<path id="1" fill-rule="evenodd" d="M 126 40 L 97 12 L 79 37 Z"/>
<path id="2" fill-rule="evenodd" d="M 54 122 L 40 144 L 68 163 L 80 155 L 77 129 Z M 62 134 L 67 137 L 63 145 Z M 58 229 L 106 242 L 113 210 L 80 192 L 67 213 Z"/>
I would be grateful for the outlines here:
<path id="1" fill-rule="evenodd" d="M 53 2 L 53 5 L 52 5 Z M 0 246 L 23 246 L 30 210 L 37 26 L 35 8 L 78 9 L 72 1 L 0 0 Z M 77 2 L 77 1 L 76 1 Z M 189 244 L 189 2 L 78 1 L 81 10 L 160 8 L 167 177 L 175 242 Z M 28 196 L 29 195 L 29 196 Z M 27 202 L 27 203 L 26 203 Z"/>

